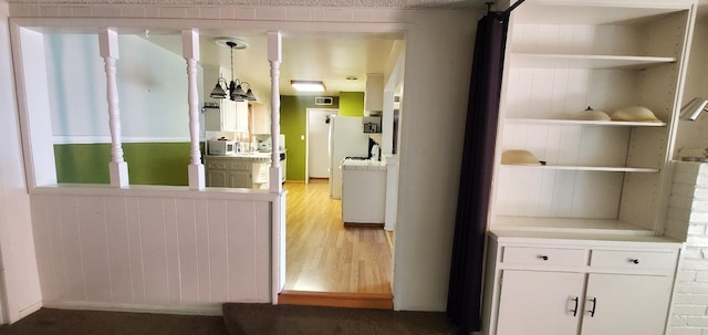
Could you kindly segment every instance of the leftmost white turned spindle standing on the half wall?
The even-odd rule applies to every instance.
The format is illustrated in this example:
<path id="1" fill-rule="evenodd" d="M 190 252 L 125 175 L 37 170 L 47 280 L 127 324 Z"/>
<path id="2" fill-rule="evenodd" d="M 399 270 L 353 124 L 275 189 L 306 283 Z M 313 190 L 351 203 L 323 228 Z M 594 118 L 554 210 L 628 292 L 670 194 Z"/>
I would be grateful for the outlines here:
<path id="1" fill-rule="evenodd" d="M 106 93 L 108 101 L 108 124 L 111 127 L 111 186 L 125 188 L 128 181 L 128 165 L 123 160 L 121 143 L 121 112 L 118 109 L 118 88 L 115 78 L 115 62 L 118 59 L 118 34 L 105 29 L 98 33 L 101 56 L 105 62 Z"/>

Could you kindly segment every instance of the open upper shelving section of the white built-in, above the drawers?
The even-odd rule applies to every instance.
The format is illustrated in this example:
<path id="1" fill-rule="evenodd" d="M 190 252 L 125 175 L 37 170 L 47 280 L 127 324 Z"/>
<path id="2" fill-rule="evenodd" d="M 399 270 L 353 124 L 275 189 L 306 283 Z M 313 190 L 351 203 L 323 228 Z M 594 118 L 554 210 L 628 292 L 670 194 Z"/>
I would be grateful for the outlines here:
<path id="1" fill-rule="evenodd" d="M 695 4 L 648 2 L 529 0 L 512 12 L 490 229 L 662 234 Z M 658 119 L 585 111 L 632 106 Z"/>

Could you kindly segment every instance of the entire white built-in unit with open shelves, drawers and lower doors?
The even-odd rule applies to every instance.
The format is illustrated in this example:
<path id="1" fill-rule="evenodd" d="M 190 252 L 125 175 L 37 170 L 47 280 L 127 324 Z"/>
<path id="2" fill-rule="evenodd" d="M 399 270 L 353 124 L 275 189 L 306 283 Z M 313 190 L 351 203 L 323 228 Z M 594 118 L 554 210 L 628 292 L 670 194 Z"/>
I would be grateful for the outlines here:
<path id="1" fill-rule="evenodd" d="M 482 334 L 665 334 L 681 249 L 663 237 L 667 167 L 694 11 L 683 0 L 513 11 Z M 645 106 L 662 122 L 572 117 L 587 106 Z M 543 165 L 502 165 L 510 149 Z"/>

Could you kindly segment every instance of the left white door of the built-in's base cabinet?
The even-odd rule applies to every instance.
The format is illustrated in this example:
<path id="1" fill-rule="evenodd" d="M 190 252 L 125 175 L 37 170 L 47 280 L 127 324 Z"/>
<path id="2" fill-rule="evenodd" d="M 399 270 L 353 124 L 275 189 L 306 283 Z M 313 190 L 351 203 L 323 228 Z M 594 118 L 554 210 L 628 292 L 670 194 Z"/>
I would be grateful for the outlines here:
<path id="1" fill-rule="evenodd" d="M 583 273 L 504 271 L 497 335 L 577 334 L 584 281 Z"/>

